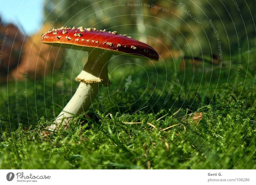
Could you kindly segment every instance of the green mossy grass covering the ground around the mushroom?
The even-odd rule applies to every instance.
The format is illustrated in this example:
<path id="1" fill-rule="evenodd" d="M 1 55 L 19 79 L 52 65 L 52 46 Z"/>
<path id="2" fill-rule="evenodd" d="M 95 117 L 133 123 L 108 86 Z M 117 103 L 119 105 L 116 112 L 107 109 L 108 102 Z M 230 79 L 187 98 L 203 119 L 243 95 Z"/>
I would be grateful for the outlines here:
<path id="1" fill-rule="evenodd" d="M 119 66 L 119 72 L 113 71 L 116 74 L 110 77 L 111 88 L 100 89 L 100 98 L 87 111 L 90 118 L 81 115 L 68 130 L 61 129 L 48 139 L 42 139 L 40 131 L 52 123 L 53 112 L 58 113 L 71 97 L 68 88 L 64 96 L 60 95 L 60 74 L 36 83 L 30 80 L 27 94 L 19 91 L 19 122 L 14 82 L 8 84 L 8 95 L 7 87 L 1 85 L 4 98 L 0 104 L 6 109 L 0 112 L 0 168 L 255 169 L 255 91 L 248 99 L 252 78 L 244 80 L 246 74 L 241 73 L 232 96 L 235 73 L 230 73 L 228 83 L 225 78 L 205 75 L 204 86 L 193 69 L 186 70 L 186 75 L 178 69 L 176 75 L 158 74 L 159 79 L 167 81 L 148 80 L 156 75 L 156 70 L 174 66 L 171 61 L 165 65 L 156 63 L 156 69 L 145 65 L 146 73 L 140 75 L 136 68 L 127 71 L 127 67 Z M 212 71 L 216 76 L 219 72 Z M 125 78 L 131 74 L 136 83 L 125 92 Z M 179 83 L 164 105 L 175 78 Z M 74 92 L 78 84 L 72 83 Z M 19 84 L 22 86 L 22 82 Z M 65 85 L 71 87 L 71 82 L 65 81 Z M 196 112 L 203 112 L 197 125 L 191 116 Z"/>

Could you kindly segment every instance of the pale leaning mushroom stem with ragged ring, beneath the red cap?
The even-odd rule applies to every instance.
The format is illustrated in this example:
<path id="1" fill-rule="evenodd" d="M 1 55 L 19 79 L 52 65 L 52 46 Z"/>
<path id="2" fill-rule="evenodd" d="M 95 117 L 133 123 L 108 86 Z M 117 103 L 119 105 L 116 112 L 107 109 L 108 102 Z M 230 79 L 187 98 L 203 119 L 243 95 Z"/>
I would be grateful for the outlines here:
<path id="1" fill-rule="evenodd" d="M 107 50 L 93 50 L 89 52 L 87 62 L 76 77 L 76 81 L 80 84 L 76 89 L 76 93 L 69 100 L 68 104 L 60 112 L 55 122 L 59 126 L 62 124 L 67 129 L 68 124 L 79 114 L 84 114 L 90 107 L 94 98 L 99 92 L 100 86 L 108 86 L 108 60 L 111 53 Z M 47 130 L 57 131 L 56 125 L 50 125 Z"/>

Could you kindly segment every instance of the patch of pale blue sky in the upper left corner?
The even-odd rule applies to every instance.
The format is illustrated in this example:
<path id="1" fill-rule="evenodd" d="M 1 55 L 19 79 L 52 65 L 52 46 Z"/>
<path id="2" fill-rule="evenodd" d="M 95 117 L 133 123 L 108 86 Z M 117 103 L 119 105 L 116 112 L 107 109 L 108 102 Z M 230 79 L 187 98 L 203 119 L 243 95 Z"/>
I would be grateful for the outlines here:
<path id="1" fill-rule="evenodd" d="M 0 16 L 4 23 L 21 23 L 27 35 L 38 31 L 44 18 L 44 0 L 0 0 Z"/>

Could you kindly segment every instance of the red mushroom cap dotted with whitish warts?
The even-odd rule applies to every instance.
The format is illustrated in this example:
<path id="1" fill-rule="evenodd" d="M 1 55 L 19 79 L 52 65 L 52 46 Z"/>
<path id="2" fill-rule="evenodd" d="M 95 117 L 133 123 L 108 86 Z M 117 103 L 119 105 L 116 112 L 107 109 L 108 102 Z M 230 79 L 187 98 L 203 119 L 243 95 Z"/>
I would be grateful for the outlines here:
<path id="1" fill-rule="evenodd" d="M 158 53 L 151 46 L 116 32 L 96 28 L 62 27 L 42 34 L 42 42 L 53 46 L 92 50 L 100 48 L 114 54 L 128 53 L 133 57 L 158 60 Z"/>

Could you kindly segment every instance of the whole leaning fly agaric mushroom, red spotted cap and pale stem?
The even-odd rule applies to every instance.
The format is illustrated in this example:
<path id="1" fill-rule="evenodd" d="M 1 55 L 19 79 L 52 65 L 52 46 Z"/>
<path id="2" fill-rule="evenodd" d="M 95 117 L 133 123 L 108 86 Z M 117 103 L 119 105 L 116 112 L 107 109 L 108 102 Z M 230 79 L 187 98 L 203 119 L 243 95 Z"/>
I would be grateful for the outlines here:
<path id="1" fill-rule="evenodd" d="M 67 128 L 75 115 L 84 113 L 89 108 L 99 91 L 100 83 L 108 86 L 108 61 L 112 54 L 158 60 L 158 53 L 151 46 L 117 32 L 107 32 L 105 29 L 61 27 L 42 34 L 42 42 L 89 52 L 83 70 L 76 77 L 76 81 L 80 82 L 76 93 L 55 121 L 64 128 Z M 46 129 L 57 131 L 58 127 L 50 125 Z"/>

